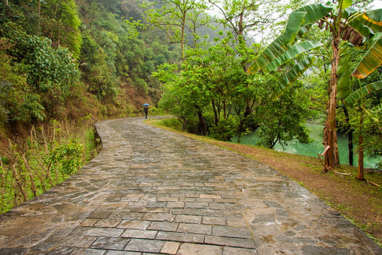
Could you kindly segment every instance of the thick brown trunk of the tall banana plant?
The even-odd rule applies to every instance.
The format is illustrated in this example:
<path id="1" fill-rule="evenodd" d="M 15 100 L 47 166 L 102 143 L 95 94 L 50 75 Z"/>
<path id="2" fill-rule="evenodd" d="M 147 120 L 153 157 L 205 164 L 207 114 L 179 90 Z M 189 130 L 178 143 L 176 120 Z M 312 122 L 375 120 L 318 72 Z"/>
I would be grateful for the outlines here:
<path id="1" fill-rule="evenodd" d="M 325 153 L 325 167 L 335 167 L 340 165 L 340 157 L 337 147 L 337 124 L 335 121 L 335 106 L 337 98 L 337 68 L 338 60 L 340 58 L 340 40 L 335 39 L 332 41 L 332 73 L 330 74 L 330 86 L 328 89 L 328 117 L 325 120 L 325 128 L 323 135 L 324 148 L 328 148 Z"/>

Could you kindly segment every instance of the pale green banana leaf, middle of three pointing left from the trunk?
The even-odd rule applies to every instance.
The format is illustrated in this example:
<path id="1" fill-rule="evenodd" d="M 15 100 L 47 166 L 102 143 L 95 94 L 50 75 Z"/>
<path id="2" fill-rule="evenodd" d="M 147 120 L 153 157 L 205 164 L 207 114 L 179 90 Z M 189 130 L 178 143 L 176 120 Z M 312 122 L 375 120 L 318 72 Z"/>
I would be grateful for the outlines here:
<path id="1" fill-rule="evenodd" d="M 293 59 L 297 55 L 300 55 L 303 52 L 307 52 L 309 50 L 316 49 L 321 47 L 322 43 L 316 41 L 305 41 L 300 42 L 296 45 L 291 46 L 283 55 L 277 57 L 277 59 L 270 62 L 270 64 L 265 67 L 265 71 L 272 72 L 282 64 L 286 63 L 288 60 Z"/>

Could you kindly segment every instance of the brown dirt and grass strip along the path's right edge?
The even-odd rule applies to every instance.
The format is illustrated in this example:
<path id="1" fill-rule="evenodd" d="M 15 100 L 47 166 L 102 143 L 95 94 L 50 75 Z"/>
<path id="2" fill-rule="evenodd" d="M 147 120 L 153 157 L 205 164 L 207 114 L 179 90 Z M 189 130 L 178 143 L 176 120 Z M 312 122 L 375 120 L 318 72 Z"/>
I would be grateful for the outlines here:
<path id="1" fill-rule="evenodd" d="M 350 173 L 349 176 L 335 174 L 334 172 L 323 174 L 320 161 L 313 157 L 277 152 L 252 145 L 238 145 L 232 142 L 212 140 L 208 137 L 192 135 L 165 127 L 163 120 L 148 120 L 146 123 L 209 142 L 219 147 L 231 149 L 262 164 L 272 166 L 272 168 L 300 183 L 332 208 L 335 208 L 369 234 L 381 246 L 382 189 L 366 181 L 357 181 L 357 169 L 355 167 L 341 165 L 340 168 L 336 169 L 336 171 Z M 365 179 L 382 186 L 381 172 L 367 172 Z"/>

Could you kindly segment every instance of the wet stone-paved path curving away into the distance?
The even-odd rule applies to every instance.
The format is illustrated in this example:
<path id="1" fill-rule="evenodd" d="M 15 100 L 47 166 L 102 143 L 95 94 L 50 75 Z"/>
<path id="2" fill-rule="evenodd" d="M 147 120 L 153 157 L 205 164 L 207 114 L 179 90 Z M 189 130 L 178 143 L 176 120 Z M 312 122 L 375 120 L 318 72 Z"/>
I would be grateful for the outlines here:
<path id="1" fill-rule="evenodd" d="M 382 254 L 270 167 L 142 120 L 98 123 L 95 159 L 0 216 L 0 254 Z"/>

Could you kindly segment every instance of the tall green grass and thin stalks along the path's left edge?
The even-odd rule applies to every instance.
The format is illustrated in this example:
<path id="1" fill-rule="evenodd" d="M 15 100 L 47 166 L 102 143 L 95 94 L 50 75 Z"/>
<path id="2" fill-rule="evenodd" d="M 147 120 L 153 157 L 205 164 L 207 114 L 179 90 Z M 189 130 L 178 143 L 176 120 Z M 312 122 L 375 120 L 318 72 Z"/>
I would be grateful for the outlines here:
<path id="1" fill-rule="evenodd" d="M 48 191 L 74 174 L 97 154 L 91 116 L 52 120 L 30 129 L 26 138 L 8 140 L 0 155 L 0 213 Z"/>

